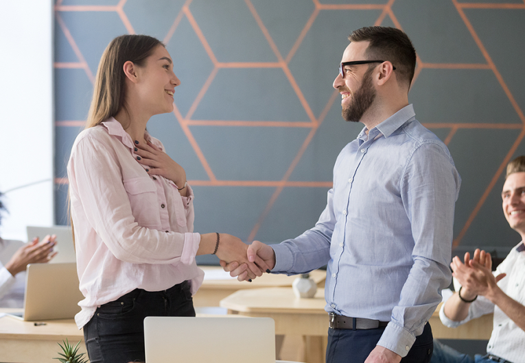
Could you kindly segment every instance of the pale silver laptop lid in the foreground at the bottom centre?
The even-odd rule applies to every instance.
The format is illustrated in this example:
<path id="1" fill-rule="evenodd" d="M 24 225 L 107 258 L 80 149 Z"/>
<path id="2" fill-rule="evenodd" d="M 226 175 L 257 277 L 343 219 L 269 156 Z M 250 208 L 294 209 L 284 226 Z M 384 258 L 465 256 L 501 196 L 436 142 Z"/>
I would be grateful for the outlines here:
<path id="1" fill-rule="evenodd" d="M 144 339 L 148 363 L 275 363 L 272 318 L 149 316 Z"/>

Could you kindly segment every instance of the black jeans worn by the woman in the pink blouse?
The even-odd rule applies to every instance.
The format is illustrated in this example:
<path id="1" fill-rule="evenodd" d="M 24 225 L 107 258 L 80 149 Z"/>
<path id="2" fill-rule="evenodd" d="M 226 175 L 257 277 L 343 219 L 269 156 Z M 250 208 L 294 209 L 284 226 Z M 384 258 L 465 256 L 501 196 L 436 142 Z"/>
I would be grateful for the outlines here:
<path id="1" fill-rule="evenodd" d="M 84 325 L 91 363 L 145 362 L 146 316 L 195 316 L 189 282 L 156 292 L 135 289 L 97 308 Z"/>

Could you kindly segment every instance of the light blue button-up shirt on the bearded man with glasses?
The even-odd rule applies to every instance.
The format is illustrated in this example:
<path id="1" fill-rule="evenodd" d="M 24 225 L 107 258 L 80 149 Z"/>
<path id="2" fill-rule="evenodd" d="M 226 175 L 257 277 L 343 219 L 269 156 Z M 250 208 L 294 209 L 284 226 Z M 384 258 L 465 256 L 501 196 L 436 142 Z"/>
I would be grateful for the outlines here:
<path id="1" fill-rule="evenodd" d="M 272 272 L 327 264 L 327 312 L 389 321 L 377 343 L 406 356 L 450 284 L 460 176 L 412 105 L 350 142 L 316 226 L 273 245 Z"/>

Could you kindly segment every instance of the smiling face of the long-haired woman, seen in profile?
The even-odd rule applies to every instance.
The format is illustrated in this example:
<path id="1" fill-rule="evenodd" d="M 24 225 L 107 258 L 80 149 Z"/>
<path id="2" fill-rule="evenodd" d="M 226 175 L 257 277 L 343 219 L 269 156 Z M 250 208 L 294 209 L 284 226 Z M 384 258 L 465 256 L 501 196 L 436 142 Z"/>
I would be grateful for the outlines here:
<path id="1" fill-rule="evenodd" d="M 165 47 L 157 46 L 137 71 L 140 99 L 145 110 L 152 115 L 172 112 L 173 95 L 180 80 L 173 73 L 172 58 Z"/>

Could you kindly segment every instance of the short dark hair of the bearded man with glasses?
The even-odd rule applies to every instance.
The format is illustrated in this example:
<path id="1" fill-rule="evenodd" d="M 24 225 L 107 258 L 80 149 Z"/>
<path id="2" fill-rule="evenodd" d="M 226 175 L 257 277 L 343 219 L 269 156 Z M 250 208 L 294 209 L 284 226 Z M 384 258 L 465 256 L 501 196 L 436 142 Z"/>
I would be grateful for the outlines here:
<path id="1" fill-rule="evenodd" d="M 370 60 L 388 60 L 395 66 L 397 79 L 410 88 L 416 69 L 416 50 L 410 38 L 395 27 L 362 27 L 348 36 L 351 42 L 370 42 Z"/>

